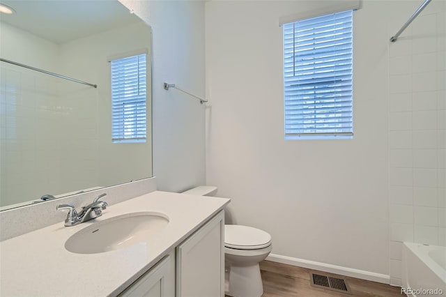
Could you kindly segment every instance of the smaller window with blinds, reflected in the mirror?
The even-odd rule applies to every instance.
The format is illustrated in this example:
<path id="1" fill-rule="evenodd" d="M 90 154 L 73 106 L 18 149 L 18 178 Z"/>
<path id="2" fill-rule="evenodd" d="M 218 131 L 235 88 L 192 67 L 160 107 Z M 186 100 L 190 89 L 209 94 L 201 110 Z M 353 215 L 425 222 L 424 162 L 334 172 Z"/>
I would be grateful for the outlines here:
<path id="1" fill-rule="evenodd" d="M 110 64 L 112 142 L 146 142 L 146 54 Z"/>

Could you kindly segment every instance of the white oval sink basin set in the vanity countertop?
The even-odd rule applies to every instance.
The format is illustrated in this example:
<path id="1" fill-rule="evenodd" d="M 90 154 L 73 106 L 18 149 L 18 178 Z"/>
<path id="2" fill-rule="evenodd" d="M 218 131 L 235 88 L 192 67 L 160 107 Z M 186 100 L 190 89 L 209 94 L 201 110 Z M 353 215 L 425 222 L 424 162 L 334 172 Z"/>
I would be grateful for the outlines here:
<path id="1" fill-rule="evenodd" d="M 126 248 L 151 238 L 169 224 L 163 213 L 129 213 L 92 224 L 68 238 L 66 250 L 77 254 L 97 254 Z"/>

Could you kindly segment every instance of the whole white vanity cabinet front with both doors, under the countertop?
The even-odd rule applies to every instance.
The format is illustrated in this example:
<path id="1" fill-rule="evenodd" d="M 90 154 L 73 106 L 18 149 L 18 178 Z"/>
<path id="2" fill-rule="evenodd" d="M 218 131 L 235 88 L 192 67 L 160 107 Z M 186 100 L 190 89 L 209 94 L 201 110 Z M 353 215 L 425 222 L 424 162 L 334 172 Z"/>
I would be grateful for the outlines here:
<path id="1" fill-rule="evenodd" d="M 119 297 L 224 296 L 224 211 L 139 277 Z"/>

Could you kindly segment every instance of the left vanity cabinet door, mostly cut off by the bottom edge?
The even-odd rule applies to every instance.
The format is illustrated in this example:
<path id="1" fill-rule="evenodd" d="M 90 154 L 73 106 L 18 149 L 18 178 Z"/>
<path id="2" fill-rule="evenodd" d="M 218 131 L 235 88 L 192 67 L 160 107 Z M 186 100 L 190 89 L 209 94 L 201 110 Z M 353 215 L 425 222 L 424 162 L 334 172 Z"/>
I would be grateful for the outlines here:
<path id="1" fill-rule="evenodd" d="M 119 297 L 173 297 L 175 292 L 175 255 L 164 257 L 131 284 Z"/>

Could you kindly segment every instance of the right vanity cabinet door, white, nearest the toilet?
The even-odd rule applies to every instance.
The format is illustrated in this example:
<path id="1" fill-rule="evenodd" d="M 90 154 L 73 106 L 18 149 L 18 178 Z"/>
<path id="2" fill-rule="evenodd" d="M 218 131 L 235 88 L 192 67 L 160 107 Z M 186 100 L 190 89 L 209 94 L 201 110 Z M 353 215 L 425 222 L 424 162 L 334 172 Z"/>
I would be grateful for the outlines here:
<path id="1" fill-rule="evenodd" d="M 176 296 L 224 296 L 224 211 L 178 245 Z"/>

